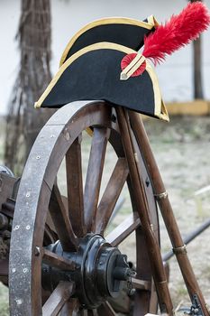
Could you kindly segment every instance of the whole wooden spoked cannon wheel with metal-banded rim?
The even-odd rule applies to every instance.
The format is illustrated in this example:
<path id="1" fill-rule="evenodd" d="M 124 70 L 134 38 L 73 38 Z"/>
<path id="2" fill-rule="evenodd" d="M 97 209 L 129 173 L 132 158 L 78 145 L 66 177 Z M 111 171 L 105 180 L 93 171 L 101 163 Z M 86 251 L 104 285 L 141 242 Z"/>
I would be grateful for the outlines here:
<path id="1" fill-rule="evenodd" d="M 88 127 L 93 136 L 83 189 L 81 135 Z M 99 199 L 108 143 L 118 158 Z M 151 223 L 159 237 L 156 203 L 137 145 L 136 153 L 150 204 Z M 57 184 L 62 161 L 66 163 L 67 203 Z M 130 191 L 131 214 L 107 232 L 125 182 Z M 9 266 L 11 314 L 117 315 L 120 309 L 114 302 L 124 295 L 123 280 L 131 278 L 135 291 L 131 296 L 125 295 L 129 307 L 123 314 L 155 312 L 157 298 L 151 267 L 135 210 L 114 107 L 100 101 L 75 102 L 60 108 L 38 135 L 18 191 Z M 59 240 L 43 246 L 49 218 Z M 136 236 L 135 278 L 126 256 L 117 248 L 132 232 Z M 45 291 L 42 299 L 41 286 Z"/>

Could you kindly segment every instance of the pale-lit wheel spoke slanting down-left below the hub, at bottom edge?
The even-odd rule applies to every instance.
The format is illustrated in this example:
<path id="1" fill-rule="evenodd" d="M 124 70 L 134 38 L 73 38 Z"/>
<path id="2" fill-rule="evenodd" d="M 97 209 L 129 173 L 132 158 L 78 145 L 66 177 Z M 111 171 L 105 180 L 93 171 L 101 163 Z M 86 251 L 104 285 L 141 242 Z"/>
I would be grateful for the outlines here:
<path id="1" fill-rule="evenodd" d="M 60 282 L 42 308 L 43 316 L 57 316 L 74 291 L 74 283 Z"/>

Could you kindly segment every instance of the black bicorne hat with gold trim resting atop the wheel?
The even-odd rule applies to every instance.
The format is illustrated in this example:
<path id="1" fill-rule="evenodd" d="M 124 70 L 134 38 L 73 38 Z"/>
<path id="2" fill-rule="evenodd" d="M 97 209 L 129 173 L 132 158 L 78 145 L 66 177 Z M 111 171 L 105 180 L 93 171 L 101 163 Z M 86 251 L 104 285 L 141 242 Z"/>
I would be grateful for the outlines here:
<path id="1" fill-rule="evenodd" d="M 155 19 L 153 17 L 151 19 L 153 21 L 152 27 L 154 27 Z M 113 29 L 116 25 L 118 26 L 118 23 L 114 24 L 114 20 L 119 22 L 119 18 L 109 19 L 109 22 L 112 21 Z M 124 20 L 132 21 L 130 19 Z M 143 23 L 147 24 L 146 22 Z M 152 25 L 152 23 L 150 24 Z M 123 26 L 121 23 L 119 25 L 121 25 L 123 33 Z M 98 27 L 100 26 L 98 24 Z M 138 27 L 142 28 L 140 25 Z M 90 30 L 92 29 L 88 28 L 88 32 Z M 144 32 L 148 32 L 148 29 L 145 28 Z M 82 42 L 82 39 L 85 39 L 85 33 L 80 32 L 70 44 L 68 43 L 68 47 L 62 55 L 58 73 L 36 102 L 35 107 L 62 107 L 77 100 L 105 100 L 147 116 L 169 121 L 167 110 L 161 98 L 158 79 L 148 60 L 145 61 L 146 70 L 141 76 L 131 77 L 127 80 L 120 79 L 123 57 L 137 52 L 126 46 L 129 42 L 129 36 L 125 36 L 123 42 L 125 45 L 117 41 L 116 33 L 116 42 L 96 42 L 95 33 L 92 33 L 93 38 L 88 37 L 89 42 Z M 101 29 L 101 33 L 102 39 L 107 38 L 108 41 L 111 41 L 108 33 L 105 37 L 103 29 Z M 132 37 L 132 33 L 130 37 Z M 138 42 L 138 36 L 134 36 L 135 43 L 133 45 L 135 48 L 142 45 L 143 37 L 144 34 Z M 76 49 L 75 45 L 79 38 L 81 38 L 81 45 L 77 46 Z M 63 61 L 64 63 L 62 63 Z"/>

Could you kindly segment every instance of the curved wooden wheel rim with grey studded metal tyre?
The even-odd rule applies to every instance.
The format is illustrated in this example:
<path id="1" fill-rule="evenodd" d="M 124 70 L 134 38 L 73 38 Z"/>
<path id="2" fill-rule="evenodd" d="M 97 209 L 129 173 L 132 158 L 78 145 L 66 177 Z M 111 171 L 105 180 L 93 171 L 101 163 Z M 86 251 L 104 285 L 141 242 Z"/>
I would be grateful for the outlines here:
<path id="1" fill-rule="evenodd" d="M 11 239 L 9 288 L 12 314 L 41 315 L 41 254 L 44 225 L 51 190 L 59 165 L 68 148 L 88 126 L 102 125 L 118 133 L 112 107 L 105 102 L 74 102 L 59 109 L 38 135 L 25 165 L 15 206 Z M 122 150 L 115 143 L 116 152 Z M 144 171 L 145 172 L 145 171 Z M 148 191 L 151 194 L 151 191 Z M 152 209 L 153 208 L 153 209 Z M 155 210 L 155 211 L 154 211 Z M 159 234 L 156 206 L 151 200 L 151 217 Z M 141 235 L 137 230 L 137 235 Z M 142 237 L 139 245 L 143 249 Z M 146 255 L 145 255 L 146 256 Z M 148 265 L 148 258 L 145 258 Z M 145 267 L 143 268 L 145 270 Z M 147 268 L 149 278 L 151 270 Z M 148 277 L 148 275 L 147 275 Z M 136 294 L 133 314 L 154 311 L 155 293 Z M 151 306 L 149 305 L 151 304 Z M 138 307 L 137 307 L 138 306 Z M 44 314 L 44 313 L 43 313 Z"/>

